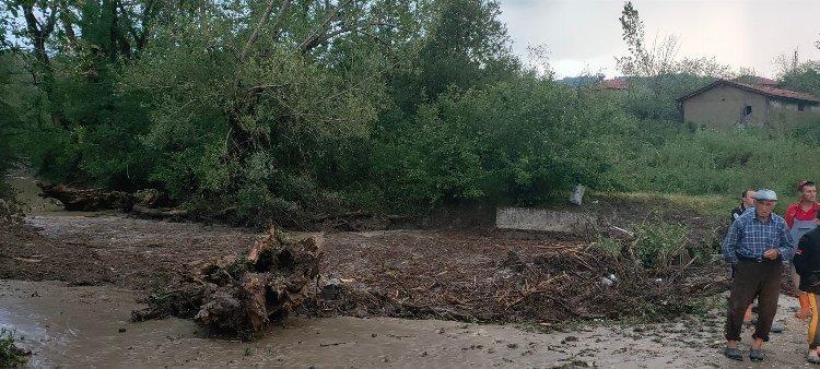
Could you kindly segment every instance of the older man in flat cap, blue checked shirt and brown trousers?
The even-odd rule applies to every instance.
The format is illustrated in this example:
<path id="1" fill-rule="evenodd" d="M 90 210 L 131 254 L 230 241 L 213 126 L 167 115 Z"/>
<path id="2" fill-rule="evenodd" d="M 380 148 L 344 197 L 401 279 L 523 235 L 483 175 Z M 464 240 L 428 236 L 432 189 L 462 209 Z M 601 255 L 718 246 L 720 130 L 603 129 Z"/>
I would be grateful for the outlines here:
<path id="1" fill-rule="evenodd" d="M 761 347 L 763 342 L 769 341 L 769 332 L 777 312 L 783 263 L 792 259 L 794 239 L 786 221 L 772 213 L 777 204 L 777 194 L 772 190 L 760 189 L 754 199 L 754 207 L 735 219 L 723 241 L 723 258 L 735 269 L 726 317 L 725 355 L 735 360 L 743 359 L 738 348 L 743 313 L 757 297 L 759 316 L 749 359 L 762 361 Z"/>

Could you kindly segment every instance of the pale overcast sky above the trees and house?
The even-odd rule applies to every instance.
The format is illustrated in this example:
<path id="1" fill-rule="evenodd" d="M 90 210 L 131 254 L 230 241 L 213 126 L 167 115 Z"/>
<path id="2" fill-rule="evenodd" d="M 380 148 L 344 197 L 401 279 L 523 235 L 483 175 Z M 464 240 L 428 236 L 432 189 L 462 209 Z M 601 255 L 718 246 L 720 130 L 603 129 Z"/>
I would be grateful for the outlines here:
<path id="1" fill-rule="evenodd" d="M 619 75 L 614 57 L 625 52 L 620 0 L 500 0 L 517 53 L 543 45 L 559 78 L 584 70 Z M 633 0 L 649 40 L 680 38 L 681 57 L 715 57 L 734 69 L 774 78 L 774 59 L 799 49 L 820 59 L 820 0 Z"/>

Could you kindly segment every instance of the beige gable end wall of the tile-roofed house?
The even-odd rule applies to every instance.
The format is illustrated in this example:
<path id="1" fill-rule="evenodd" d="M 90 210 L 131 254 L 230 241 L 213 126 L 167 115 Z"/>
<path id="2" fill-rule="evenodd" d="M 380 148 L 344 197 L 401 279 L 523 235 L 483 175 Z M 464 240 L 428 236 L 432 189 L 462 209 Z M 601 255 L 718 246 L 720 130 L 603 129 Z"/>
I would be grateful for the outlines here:
<path id="1" fill-rule="evenodd" d="M 749 116 L 743 109 L 752 107 Z M 683 102 L 683 120 L 715 128 L 760 127 L 768 123 L 766 97 L 733 86 L 716 86 Z"/>

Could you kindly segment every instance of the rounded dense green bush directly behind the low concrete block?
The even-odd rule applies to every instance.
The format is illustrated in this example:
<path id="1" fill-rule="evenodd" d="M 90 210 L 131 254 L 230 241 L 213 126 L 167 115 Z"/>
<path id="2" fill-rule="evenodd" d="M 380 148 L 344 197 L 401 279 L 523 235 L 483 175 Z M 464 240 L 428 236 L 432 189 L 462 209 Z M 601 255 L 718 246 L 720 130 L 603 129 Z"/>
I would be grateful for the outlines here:
<path id="1" fill-rule="evenodd" d="M 406 136 L 376 151 L 375 170 L 394 183 L 389 198 L 537 203 L 604 181 L 594 138 L 628 124 L 596 95 L 524 75 L 423 105 Z"/>

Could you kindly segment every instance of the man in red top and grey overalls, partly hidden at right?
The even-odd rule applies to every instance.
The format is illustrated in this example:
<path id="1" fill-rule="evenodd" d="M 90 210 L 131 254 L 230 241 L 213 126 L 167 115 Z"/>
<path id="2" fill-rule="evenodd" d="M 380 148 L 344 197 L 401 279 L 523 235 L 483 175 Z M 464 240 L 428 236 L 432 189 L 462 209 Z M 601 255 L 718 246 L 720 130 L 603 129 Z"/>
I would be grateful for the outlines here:
<path id="1" fill-rule="evenodd" d="M 800 194 L 800 201 L 795 202 L 786 209 L 783 218 L 788 225 L 789 233 L 795 242 L 800 241 L 800 237 L 809 230 L 815 229 L 818 225 L 817 213 L 820 211 L 820 204 L 817 202 L 817 186 L 809 180 L 803 180 L 797 183 L 797 192 Z M 799 319 L 806 319 L 811 314 L 809 297 L 800 290 L 800 276 L 792 267 L 792 284 L 798 291 L 800 301 L 800 311 L 795 314 Z"/>

